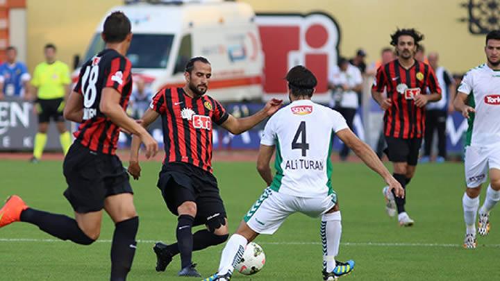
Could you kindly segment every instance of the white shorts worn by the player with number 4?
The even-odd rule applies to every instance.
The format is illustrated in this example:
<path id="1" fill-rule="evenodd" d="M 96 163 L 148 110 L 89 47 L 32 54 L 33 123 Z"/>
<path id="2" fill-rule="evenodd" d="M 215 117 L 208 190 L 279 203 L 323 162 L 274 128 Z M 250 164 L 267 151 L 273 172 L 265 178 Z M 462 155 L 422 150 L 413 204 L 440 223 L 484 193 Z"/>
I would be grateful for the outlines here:
<path id="1" fill-rule="evenodd" d="M 243 219 L 251 230 L 272 235 L 290 214 L 301 212 L 317 218 L 331 210 L 336 203 L 335 192 L 325 194 L 322 198 L 304 198 L 279 193 L 267 187 Z"/>

